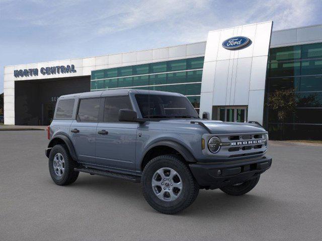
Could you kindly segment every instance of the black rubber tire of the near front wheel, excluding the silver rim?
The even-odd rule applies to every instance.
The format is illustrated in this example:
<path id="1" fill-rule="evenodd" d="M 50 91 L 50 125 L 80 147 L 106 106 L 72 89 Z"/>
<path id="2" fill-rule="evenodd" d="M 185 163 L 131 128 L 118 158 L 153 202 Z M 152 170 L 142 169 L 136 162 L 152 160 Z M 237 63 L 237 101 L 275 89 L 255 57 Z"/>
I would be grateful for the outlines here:
<path id="1" fill-rule="evenodd" d="M 165 167 L 174 169 L 182 179 L 182 192 L 173 201 L 160 200 L 152 189 L 152 177 L 154 173 L 160 168 Z M 175 214 L 184 210 L 194 202 L 199 193 L 199 185 L 187 164 L 176 155 L 163 155 L 150 160 L 144 167 L 141 186 L 144 198 L 148 204 L 156 211 L 165 214 Z"/>

